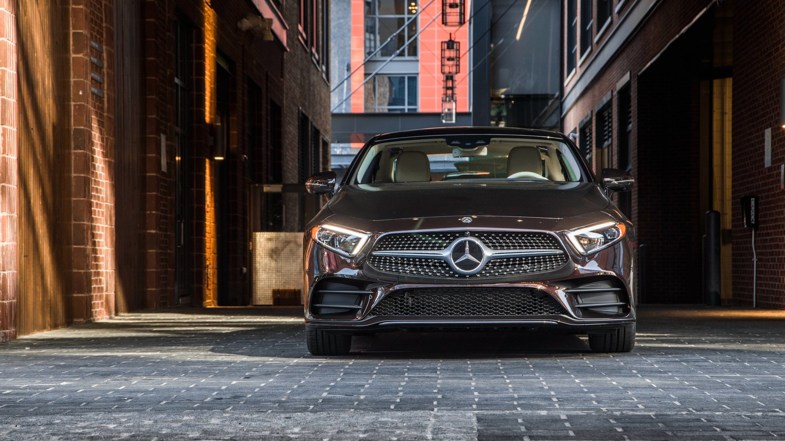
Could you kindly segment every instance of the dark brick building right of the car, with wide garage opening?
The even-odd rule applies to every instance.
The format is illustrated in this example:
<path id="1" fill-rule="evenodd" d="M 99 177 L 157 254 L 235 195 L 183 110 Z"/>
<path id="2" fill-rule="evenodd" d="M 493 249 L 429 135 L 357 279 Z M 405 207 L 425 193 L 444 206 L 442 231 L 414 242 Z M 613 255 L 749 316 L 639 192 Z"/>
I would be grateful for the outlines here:
<path id="1" fill-rule="evenodd" d="M 785 307 L 780 3 L 563 2 L 563 128 L 597 172 L 636 178 L 616 197 L 636 224 L 642 301 L 704 301 L 706 213 L 717 210 L 722 303 L 752 304 L 756 290 L 758 306 Z M 756 288 L 743 195 L 761 198 Z"/>

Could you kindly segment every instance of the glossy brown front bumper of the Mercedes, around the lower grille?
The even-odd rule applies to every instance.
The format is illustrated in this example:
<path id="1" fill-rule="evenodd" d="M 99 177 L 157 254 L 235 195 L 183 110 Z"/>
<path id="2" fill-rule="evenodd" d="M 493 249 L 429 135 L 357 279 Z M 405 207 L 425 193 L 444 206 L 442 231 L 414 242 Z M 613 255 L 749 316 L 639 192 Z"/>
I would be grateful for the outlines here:
<path id="1" fill-rule="evenodd" d="M 624 239 L 590 257 L 569 253 L 569 259 L 556 271 L 504 280 L 433 281 L 398 279 L 368 271 L 362 256 L 354 259 L 327 250 L 305 239 L 305 324 L 324 330 L 378 332 L 401 329 L 487 329 L 527 328 L 568 330 L 572 333 L 602 333 L 635 323 L 632 246 Z M 361 298 L 345 314 L 319 314 L 319 290 L 325 283 L 338 282 L 356 287 Z M 610 286 L 619 303 L 615 312 L 590 308 L 582 286 Z M 563 311 L 538 315 L 379 315 L 376 308 L 385 298 L 407 290 L 531 290 L 548 296 Z M 586 290 L 586 288 L 583 288 Z M 596 289 L 594 289 L 596 290 Z M 358 297 L 359 298 L 359 297 Z M 613 308 L 610 308 L 613 311 Z"/>

